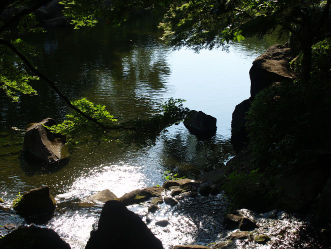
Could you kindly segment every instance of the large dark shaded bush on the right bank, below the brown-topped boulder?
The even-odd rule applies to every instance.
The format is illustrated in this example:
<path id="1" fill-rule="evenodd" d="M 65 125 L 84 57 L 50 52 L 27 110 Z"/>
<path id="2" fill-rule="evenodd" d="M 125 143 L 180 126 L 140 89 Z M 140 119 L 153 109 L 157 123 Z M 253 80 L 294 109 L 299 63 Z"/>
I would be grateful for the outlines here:
<path id="1" fill-rule="evenodd" d="M 331 82 L 284 82 L 255 96 L 246 129 L 260 167 L 291 166 L 302 149 L 331 139 Z"/>

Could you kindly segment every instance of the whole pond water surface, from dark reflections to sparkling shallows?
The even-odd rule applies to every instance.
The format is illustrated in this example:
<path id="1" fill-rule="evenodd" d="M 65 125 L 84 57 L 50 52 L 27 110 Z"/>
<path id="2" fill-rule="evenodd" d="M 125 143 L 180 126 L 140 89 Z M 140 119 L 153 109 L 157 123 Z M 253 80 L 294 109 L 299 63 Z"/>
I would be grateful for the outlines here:
<path id="1" fill-rule="evenodd" d="M 17 104 L 0 93 L 0 196 L 9 207 L 19 192 L 48 185 L 58 206 L 54 216 L 41 225 L 53 228 L 72 248 L 84 248 L 101 211 L 101 205 L 79 204 L 90 194 L 110 189 L 119 197 L 137 188 L 162 185 L 166 170 L 193 177 L 219 167 L 232 155 L 228 142 L 232 111 L 249 97 L 251 62 L 275 43 L 269 36 L 260 41 L 246 39 L 231 45 L 228 52 L 173 51 L 159 40 L 156 25 L 156 19 L 145 17 L 117 29 L 105 25 L 77 31 L 54 29 L 26 37 L 26 41 L 38 52 L 34 64 L 70 100 L 86 97 L 127 120 L 154 114 L 159 103 L 170 97 L 185 99 L 189 109 L 217 118 L 217 132 L 210 139 L 198 140 L 179 124 L 169 127 L 154 146 L 122 148 L 114 141 L 79 144 L 70 146 L 64 164 L 40 167 L 21 155 L 21 130 L 45 117 L 60 121 L 68 108 L 41 81 L 33 85 L 37 96 L 22 96 Z M 210 233 L 221 226 L 210 212 L 216 207 L 225 210 L 226 203 L 221 195 L 208 201 L 202 198 L 190 210 L 183 207 L 179 212 L 178 207 L 157 214 L 170 219 L 177 229 L 157 230 L 153 222 L 150 227 L 164 248 L 178 243 L 207 244 L 221 233 L 217 229 Z M 130 209 L 144 216 L 146 207 Z M 13 211 L 0 212 L 0 216 L 3 223 L 29 223 Z M 211 227 L 202 224 L 203 220 Z M 6 232 L 1 228 L 2 234 Z"/>

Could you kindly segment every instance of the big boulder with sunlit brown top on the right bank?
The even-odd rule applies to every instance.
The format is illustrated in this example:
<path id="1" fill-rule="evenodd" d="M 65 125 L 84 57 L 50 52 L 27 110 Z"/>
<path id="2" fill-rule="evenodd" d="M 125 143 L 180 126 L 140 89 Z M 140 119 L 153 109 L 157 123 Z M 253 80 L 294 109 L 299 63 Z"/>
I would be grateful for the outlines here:
<path id="1" fill-rule="evenodd" d="M 250 96 L 274 82 L 294 80 L 297 76 L 290 69 L 289 62 L 293 59 L 290 49 L 284 45 L 273 45 L 253 61 L 249 70 Z"/>

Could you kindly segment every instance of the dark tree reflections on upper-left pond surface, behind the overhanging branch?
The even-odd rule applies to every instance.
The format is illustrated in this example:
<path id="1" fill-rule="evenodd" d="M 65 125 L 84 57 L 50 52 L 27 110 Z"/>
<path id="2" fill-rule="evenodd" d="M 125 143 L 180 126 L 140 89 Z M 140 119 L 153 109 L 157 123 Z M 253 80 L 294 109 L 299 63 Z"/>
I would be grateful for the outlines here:
<path id="1" fill-rule="evenodd" d="M 157 23 L 144 18 L 116 29 L 54 29 L 26 40 L 43 51 L 34 65 L 70 100 L 87 97 L 122 117 L 150 114 L 170 74 L 164 46 L 157 38 Z M 41 81 L 33 87 L 39 95 L 23 97 L 18 104 L 7 103 L 1 95 L 2 120 L 14 120 L 9 125 L 16 126 L 18 120 L 63 117 L 67 108 L 62 100 Z"/>

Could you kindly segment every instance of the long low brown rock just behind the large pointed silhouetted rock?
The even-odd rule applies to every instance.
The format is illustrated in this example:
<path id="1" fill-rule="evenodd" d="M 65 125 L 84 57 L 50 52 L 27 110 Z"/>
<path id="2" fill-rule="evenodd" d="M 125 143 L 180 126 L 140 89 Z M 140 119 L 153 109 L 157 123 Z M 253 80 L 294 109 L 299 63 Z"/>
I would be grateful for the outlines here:
<path id="1" fill-rule="evenodd" d="M 143 189 L 136 189 L 129 193 L 124 194 L 122 197 L 118 198 L 118 201 L 125 206 L 140 203 L 148 200 L 151 197 L 161 196 L 164 188 L 162 187 L 147 187 Z"/>

